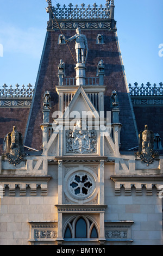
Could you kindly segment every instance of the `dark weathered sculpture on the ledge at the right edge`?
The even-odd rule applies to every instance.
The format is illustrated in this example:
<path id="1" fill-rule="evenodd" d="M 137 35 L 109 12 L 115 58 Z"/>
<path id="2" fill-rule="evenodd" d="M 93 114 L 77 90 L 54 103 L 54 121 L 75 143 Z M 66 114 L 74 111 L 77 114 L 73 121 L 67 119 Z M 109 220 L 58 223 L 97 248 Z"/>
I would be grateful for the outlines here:
<path id="1" fill-rule="evenodd" d="M 143 163 L 153 163 L 159 154 L 153 150 L 154 133 L 148 130 L 148 125 L 145 125 L 145 130 L 139 133 L 139 151 L 136 156 L 139 156 Z"/>

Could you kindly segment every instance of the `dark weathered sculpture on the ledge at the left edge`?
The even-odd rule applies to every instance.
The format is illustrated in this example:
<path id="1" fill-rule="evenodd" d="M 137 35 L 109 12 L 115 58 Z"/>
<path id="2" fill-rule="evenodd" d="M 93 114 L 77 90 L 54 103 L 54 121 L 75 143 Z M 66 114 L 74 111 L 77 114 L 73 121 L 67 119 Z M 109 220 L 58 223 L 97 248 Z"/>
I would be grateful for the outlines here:
<path id="1" fill-rule="evenodd" d="M 9 163 L 19 164 L 23 157 L 26 156 L 23 152 L 23 136 L 16 130 L 16 126 L 13 126 L 13 131 L 9 132 L 6 140 L 6 154 L 5 157 L 9 159 Z"/>

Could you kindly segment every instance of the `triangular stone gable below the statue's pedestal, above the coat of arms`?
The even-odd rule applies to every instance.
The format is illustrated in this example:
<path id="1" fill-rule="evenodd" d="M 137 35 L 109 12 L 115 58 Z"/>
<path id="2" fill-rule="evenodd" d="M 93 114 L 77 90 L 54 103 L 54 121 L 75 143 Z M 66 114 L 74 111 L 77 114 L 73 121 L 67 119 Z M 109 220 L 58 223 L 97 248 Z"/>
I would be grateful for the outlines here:
<path id="1" fill-rule="evenodd" d="M 66 108 L 66 111 L 64 113 L 64 118 L 68 118 L 69 114 L 72 111 L 78 111 L 81 118 L 82 118 L 83 111 L 89 112 L 89 114 L 92 113 L 93 118 L 99 118 L 99 114 L 96 108 L 93 106 L 89 97 L 84 92 L 84 89 L 82 88 L 82 86 L 79 86 L 76 94 L 73 96 L 70 104 L 68 105 L 68 108 Z"/>

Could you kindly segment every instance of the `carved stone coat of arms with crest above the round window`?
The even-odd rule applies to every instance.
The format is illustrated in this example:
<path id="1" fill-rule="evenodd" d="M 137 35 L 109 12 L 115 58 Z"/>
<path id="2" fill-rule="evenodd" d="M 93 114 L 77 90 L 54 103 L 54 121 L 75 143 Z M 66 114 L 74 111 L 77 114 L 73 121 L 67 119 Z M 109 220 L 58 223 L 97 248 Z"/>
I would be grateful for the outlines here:
<path id="1" fill-rule="evenodd" d="M 97 133 L 94 130 L 83 130 L 82 121 L 77 121 L 73 131 L 67 132 L 66 151 L 67 153 L 96 153 Z"/>

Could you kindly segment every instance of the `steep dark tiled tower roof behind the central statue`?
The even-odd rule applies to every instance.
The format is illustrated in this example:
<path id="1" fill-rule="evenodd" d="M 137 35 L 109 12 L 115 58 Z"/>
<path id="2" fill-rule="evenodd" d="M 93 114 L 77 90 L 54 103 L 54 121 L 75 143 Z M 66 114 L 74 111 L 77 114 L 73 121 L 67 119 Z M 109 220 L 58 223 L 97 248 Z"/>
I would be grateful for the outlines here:
<path id="1" fill-rule="evenodd" d="M 105 111 L 110 111 L 110 96 L 113 90 L 116 90 L 120 101 L 120 121 L 123 125 L 121 130 L 121 150 L 127 151 L 135 147 L 137 143 L 133 115 L 131 113 L 127 89 L 124 82 L 123 67 L 118 52 L 116 35 L 114 32 L 103 31 L 104 44 L 97 45 L 97 35 L 101 30 L 84 31 L 87 37 L 89 56 L 86 64 L 86 76 L 95 77 L 99 60 L 103 59 L 105 65 L 104 84 L 107 86 L 105 92 Z M 26 145 L 31 148 L 42 148 L 42 132 L 40 124 L 42 123 L 42 102 L 43 94 L 48 90 L 51 93 L 52 113 L 58 110 L 58 95 L 55 92 L 55 86 L 58 85 L 58 64 L 60 59 L 65 62 L 67 77 L 75 77 L 75 64 L 70 51 L 65 45 L 58 45 L 60 31 L 47 32 L 45 51 L 43 52 L 39 77 L 36 83 L 34 105 L 29 121 L 29 127 L 26 137 Z M 74 31 L 64 31 L 66 38 L 72 36 Z M 70 49 L 75 56 L 74 42 L 69 43 Z M 127 139 L 126 139 L 127 138 Z"/>

